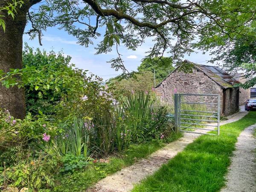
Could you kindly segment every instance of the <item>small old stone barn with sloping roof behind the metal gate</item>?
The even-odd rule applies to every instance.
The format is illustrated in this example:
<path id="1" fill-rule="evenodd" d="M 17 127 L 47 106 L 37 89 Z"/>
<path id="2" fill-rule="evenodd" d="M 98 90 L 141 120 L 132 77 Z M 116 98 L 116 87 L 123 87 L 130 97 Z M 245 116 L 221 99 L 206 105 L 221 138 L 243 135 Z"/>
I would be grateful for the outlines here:
<path id="1" fill-rule="evenodd" d="M 184 73 L 177 67 L 155 87 L 163 101 L 173 104 L 174 93 L 220 94 L 221 115 L 228 116 L 239 111 L 239 87 L 233 87 L 239 81 L 219 67 L 195 64 L 187 60 L 184 63 L 192 64 L 192 73 Z M 190 102 L 217 102 L 216 97 L 209 96 L 186 99 Z"/>

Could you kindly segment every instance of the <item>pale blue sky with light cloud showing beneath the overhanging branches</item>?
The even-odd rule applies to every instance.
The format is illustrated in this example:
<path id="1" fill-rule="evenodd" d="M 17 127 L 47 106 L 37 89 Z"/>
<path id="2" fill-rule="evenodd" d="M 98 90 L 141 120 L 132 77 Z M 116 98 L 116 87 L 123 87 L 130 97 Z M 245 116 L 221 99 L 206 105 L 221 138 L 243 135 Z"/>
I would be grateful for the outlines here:
<path id="1" fill-rule="evenodd" d="M 30 29 L 30 25 L 26 26 L 26 31 Z M 102 29 L 99 29 L 102 30 Z M 64 30 L 59 30 L 57 27 L 48 28 L 46 32 L 43 32 L 42 38 L 43 46 L 38 43 L 38 38 L 29 40 L 29 35 L 24 35 L 23 42 L 27 42 L 30 47 L 40 47 L 47 52 L 54 50 L 55 52 L 63 51 L 64 54 L 72 57 L 72 63 L 76 64 L 76 67 L 89 70 L 91 73 L 101 76 L 104 80 L 117 76 L 122 73 L 121 71 L 115 71 L 107 63 L 111 58 L 116 58 L 115 51 L 108 54 L 95 55 L 97 42 L 102 41 L 102 37 L 95 40 L 94 45 L 84 47 L 77 44 L 75 37 L 68 35 Z M 152 47 L 153 43 L 148 38 L 145 43 L 138 47 L 136 51 L 128 50 L 124 46 L 120 46 L 120 53 L 125 61 L 125 67 L 131 72 L 137 70 L 137 67 L 141 63 L 141 59 L 145 57 L 145 52 Z M 165 55 L 168 56 L 168 55 Z M 185 55 L 184 59 L 189 59 L 192 62 L 198 64 L 207 64 L 207 60 L 210 59 L 209 54 L 202 54 L 202 52 L 192 53 L 191 55 Z"/>

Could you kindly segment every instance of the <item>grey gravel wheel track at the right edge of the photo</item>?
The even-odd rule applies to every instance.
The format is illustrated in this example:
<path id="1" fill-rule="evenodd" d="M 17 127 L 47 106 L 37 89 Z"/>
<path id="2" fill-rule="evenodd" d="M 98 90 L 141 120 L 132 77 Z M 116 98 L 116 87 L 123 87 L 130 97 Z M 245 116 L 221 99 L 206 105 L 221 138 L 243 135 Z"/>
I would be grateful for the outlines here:
<path id="1" fill-rule="evenodd" d="M 239 135 L 226 176 L 227 185 L 221 192 L 256 192 L 256 139 L 253 137 L 255 128 L 256 124 L 247 127 Z"/>

